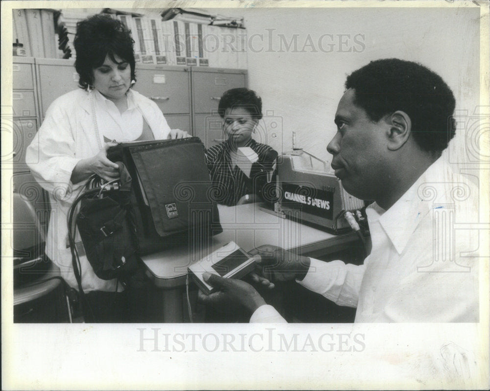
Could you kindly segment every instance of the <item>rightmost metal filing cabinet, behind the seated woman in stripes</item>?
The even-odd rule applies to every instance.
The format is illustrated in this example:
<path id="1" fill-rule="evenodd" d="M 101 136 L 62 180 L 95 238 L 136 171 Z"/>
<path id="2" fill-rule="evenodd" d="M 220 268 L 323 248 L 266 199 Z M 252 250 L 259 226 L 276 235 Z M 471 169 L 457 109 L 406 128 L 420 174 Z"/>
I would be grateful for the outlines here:
<path id="1" fill-rule="evenodd" d="M 222 141 L 222 120 L 218 114 L 221 95 L 231 88 L 246 87 L 247 72 L 193 67 L 191 84 L 194 135 L 209 148 Z"/>

